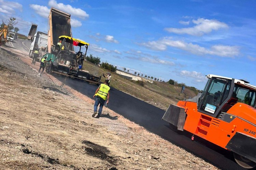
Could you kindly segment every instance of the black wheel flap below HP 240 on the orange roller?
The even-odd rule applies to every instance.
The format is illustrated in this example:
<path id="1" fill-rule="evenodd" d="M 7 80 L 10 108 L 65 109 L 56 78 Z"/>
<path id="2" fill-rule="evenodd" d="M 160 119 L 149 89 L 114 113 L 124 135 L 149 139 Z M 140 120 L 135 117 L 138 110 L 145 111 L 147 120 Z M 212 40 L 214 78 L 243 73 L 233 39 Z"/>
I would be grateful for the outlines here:
<path id="1" fill-rule="evenodd" d="M 239 132 L 230 139 L 226 148 L 256 163 L 256 138 Z"/>

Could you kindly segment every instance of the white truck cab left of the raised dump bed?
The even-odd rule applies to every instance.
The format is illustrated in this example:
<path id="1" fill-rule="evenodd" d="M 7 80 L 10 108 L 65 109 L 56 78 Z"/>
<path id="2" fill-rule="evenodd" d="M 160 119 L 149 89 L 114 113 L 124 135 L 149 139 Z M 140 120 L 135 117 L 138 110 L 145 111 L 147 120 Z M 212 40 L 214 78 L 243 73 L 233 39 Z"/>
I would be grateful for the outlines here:
<path id="1" fill-rule="evenodd" d="M 33 57 L 33 51 L 35 49 L 39 49 L 39 54 L 40 55 L 38 56 L 38 58 L 36 58 L 35 61 L 40 62 L 40 56 L 46 50 L 47 43 L 48 43 L 48 35 L 46 33 L 43 33 L 43 32 L 40 32 L 40 31 L 35 33 L 35 35 L 32 38 L 32 43 L 30 45 L 30 49 L 29 49 L 29 52 L 28 52 L 29 57 L 32 58 Z"/>

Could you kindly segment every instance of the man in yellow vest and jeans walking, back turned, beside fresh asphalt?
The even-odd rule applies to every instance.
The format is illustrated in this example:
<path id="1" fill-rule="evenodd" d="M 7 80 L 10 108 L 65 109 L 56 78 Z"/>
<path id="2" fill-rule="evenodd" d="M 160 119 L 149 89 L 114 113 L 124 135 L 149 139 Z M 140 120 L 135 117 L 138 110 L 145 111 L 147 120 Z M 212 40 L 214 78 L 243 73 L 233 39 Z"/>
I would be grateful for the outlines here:
<path id="1" fill-rule="evenodd" d="M 99 118 L 101 115 L 102 108 L 106 99 L 107 99 L 106 104 L 109 103 L 110 87 L 108 86 L 108 83 L 109 83 L 109 80 L 105 80 L 104 84 L 101 84 L 95 91 L 95 95 L 93 96 L 94 98 L 96 96 L 95 103 L 94 103 L 94 114 L 92 115 L 93 117 L 97 114 L 98 105 L 100 105 L 100 108 L 99 108 L 97 118 Z"/>

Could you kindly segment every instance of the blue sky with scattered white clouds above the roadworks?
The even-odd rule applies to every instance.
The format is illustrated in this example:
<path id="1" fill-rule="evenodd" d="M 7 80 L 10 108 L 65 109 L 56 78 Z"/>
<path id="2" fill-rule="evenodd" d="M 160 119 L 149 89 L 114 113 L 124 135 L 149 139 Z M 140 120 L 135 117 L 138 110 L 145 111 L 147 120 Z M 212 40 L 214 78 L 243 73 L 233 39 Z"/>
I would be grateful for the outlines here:
<path id="1" fill-rule="evenodd" d="M 204 75 L 256 85 L 256 1 L 0 0 L 0 17 L 48 31 L 49 9 L 71 14 L 72 35 L 118 68 L 203 89 Z"/>

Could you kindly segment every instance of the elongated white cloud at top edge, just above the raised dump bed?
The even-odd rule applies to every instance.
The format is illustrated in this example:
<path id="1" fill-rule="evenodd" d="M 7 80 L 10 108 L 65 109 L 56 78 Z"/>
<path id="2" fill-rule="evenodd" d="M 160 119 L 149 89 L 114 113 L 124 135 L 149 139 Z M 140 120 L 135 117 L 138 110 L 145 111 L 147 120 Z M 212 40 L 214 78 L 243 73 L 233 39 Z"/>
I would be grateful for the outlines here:
<path id="1" fill-rule="evenodd" d="M 65 5 L 63 3 L 57 3 L 56 0 L 49 0 L 49 6 L 55 7 L 61 11 L 69 13 L 71 16 L 76 16 L 82 19 L 89 18 L 89 14 L 87 14 L 81 8 L 74 8 L 71 5 Z"/>

